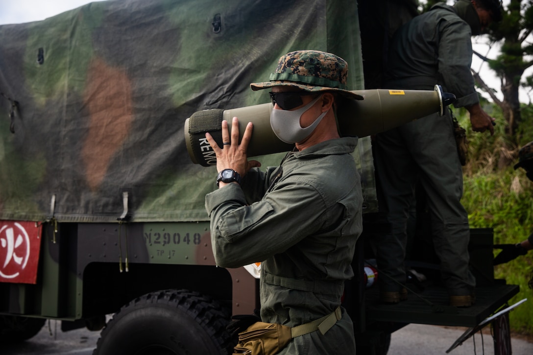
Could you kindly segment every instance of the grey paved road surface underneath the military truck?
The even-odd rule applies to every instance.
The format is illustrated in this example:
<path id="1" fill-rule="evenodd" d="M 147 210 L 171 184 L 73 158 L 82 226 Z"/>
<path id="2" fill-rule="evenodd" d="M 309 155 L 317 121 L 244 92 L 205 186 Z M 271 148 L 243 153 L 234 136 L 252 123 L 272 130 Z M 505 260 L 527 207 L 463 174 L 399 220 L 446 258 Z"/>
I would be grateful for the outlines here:
<path id="1" fill-rule="evenodd" d="M 457 328 L 410 324 L 392 334 L 389 355 L 446 355 L 446 350 L 463 332 L 463 329 Z M 8 348 L 4 346 L 0 349 L 0 354 L 91 355 L 98 337 L 99 332 L 89 332 L 87 329 L 63 333 L 59 322 L 50 321 L 50 326 L 47 322 L 41 333 L 31 340 L 11 345 Z M 473 339 L 470 338 L 463 345 L 451 351 L 450 355 L 494 355 L 492 338 L 489 334 L 483 334 L 483 343 L 484 346 L 482 346 L 481 335 L 477 333 Z M 512 348 L 513 355 L 533 354 L 533 343 L 527 341 L 513 338 Z"/>

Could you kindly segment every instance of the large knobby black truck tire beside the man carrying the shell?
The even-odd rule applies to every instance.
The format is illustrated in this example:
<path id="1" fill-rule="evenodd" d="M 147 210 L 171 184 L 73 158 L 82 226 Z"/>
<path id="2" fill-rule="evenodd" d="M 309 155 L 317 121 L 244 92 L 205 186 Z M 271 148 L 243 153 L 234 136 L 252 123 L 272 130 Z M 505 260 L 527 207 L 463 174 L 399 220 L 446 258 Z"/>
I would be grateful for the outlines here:
<path id="1" fill-rule="evenodd" d="M 226 355 L 233 349 L 230 316 L 228 308 L 196 292 L 152 292 L 115 313 L 93 355 Z"/>

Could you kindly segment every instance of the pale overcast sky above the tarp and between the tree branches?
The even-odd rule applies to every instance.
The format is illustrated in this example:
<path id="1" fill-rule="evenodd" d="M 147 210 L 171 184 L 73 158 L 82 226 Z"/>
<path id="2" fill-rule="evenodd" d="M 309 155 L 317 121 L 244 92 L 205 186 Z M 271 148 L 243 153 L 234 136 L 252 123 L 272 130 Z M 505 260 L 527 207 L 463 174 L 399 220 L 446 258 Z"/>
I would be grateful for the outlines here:
<path id="1" fill-rule="evenodd" d="M 507 4 L 508 1 L 504 0 L 504 4 Z M 91 2 L 94 2 L 94 0 L 0 0 L 0 25 L 44 20 Z M 453 1 L 448 0 L 448 3 L 452 4 Z M 476 42 L 482 42 L 480 39 L 481 37 L 473 37 L 474 50 L 486 55 L 488 58 L 495 58 L 499 52 L 498 47 L 489 49 L 486 45 L 477 44 Z M 499 79 L 488 69 L 487 63 L 483 63 L 474 55 L 472 68 L 476 71 L 481 69 L 481 78 L 490 87 L 496 89 L 498 98 L 502 99 Z M 483 96 L 488 98 L 487 94 Z M 523 91 L 521 92 L 520 100 L 524 103 L 529 102 L 528 96 Z"/>

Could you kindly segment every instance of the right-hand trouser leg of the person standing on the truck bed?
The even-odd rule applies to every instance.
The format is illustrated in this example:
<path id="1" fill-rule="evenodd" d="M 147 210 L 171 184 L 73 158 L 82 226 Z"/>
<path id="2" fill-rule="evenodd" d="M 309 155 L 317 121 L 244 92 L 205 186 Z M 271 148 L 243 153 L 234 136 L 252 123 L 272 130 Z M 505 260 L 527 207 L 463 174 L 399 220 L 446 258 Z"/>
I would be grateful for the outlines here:
<path id="1" fill-rule="evenodd" d="M 411 151 L 419 166 L 431 212 L 435 252 L 450 295 L 470 295 L 475 279 L 469 270 L 468 215 L 461 204 L 463 172 L 457 156 L 451 117 L 419 120 L 411 132 Z"/>

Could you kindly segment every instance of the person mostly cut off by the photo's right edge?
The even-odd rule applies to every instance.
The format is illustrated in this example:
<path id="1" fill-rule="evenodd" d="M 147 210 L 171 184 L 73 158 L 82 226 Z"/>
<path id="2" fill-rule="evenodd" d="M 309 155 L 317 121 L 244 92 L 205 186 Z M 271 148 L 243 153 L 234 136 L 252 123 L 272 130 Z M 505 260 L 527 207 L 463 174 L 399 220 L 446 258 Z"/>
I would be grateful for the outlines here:
<path id="1" fill-rule="evenodd" d="M 527 143 L 518 151 L 518 163 L 514 165 L 515 170 L 519 167 L 526 171 L 526 176 L 533 181 L 533 142 Z M 509 262 L 520 255 L 526 255 L 533 249 L 533 233 L 526 240 L 516 244 L 496 244 L 495 248 L 502 251 L 494 258 L 494 265 Z M 530 287 L 532 281 L 529 281 Z"/>

